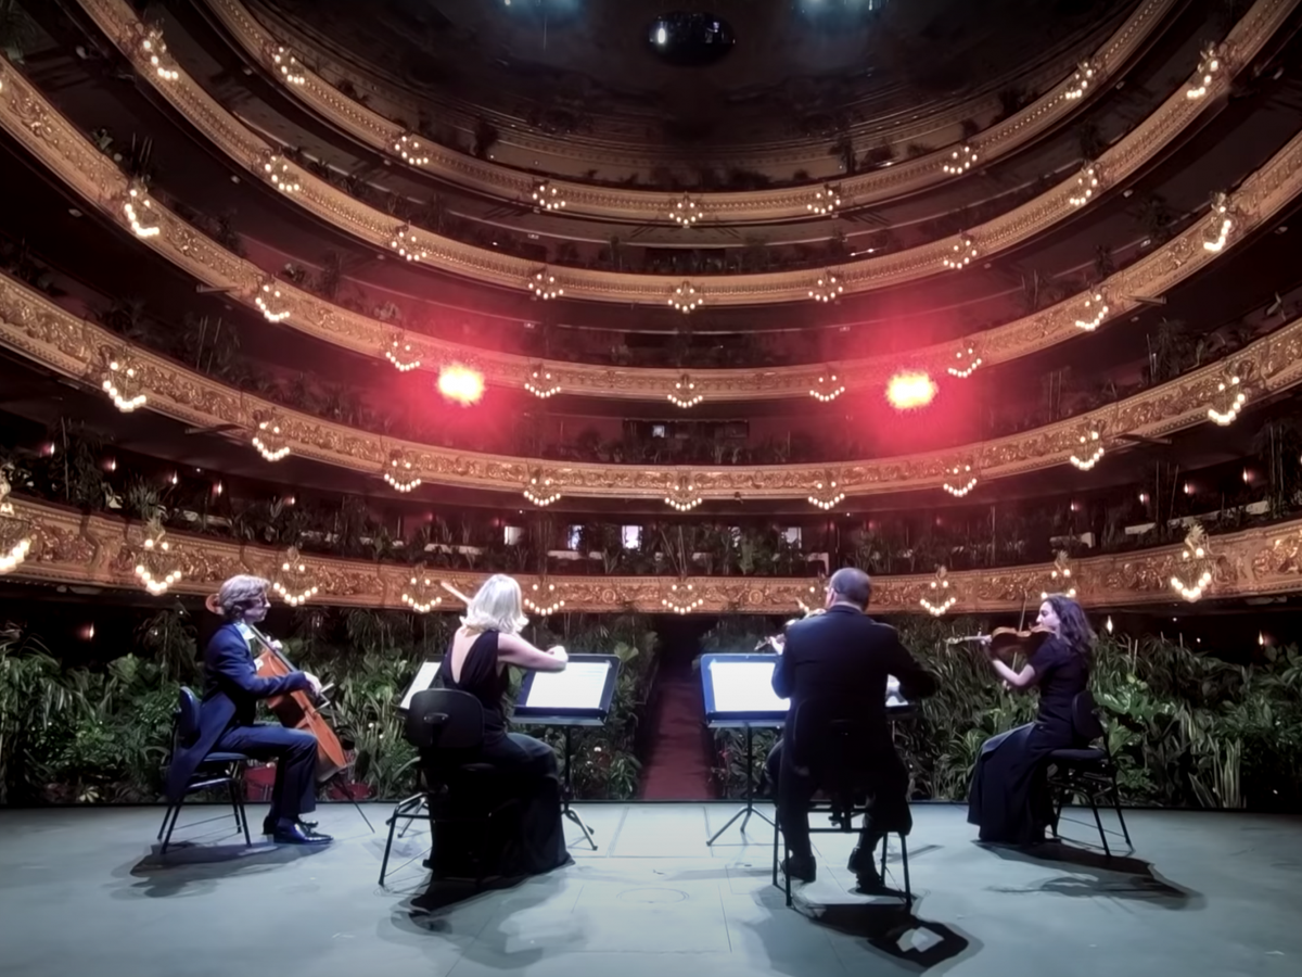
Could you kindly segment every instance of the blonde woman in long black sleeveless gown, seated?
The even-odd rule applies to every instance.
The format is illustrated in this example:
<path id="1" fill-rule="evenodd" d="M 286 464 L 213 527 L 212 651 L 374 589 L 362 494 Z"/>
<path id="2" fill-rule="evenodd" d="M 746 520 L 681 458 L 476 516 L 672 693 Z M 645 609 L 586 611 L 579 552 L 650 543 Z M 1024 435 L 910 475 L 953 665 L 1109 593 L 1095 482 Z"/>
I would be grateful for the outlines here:
<path id="1" fill-rule="evenodd" d="M 519 584 L 497 573 L 470 601 L 452 647 L 439 666 L 444 688 L 469 692 L 484 710 L 484 740 L 475 762 L 499 767 L 508 793 L 521 805 L 518 836 L 504 839 L 501 875 L 536 875 L 569 862 L 561 827 L 561 787 L 556 753 L 546 743 L 506 732 L 503 701 L 513 664 L 539 672 L 564 671 L 565 649 L 542 651 L 522 637 L 527 623 Z M 439 845 L 435 845 L 439 849 Z"/>

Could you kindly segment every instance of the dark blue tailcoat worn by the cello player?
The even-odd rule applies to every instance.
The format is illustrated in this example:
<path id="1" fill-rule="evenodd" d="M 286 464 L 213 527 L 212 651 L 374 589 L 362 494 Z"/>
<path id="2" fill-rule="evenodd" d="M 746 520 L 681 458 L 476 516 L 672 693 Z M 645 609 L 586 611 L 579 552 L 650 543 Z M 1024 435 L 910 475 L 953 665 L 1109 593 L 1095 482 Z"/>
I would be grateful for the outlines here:
<path id="1" fill-rule="evenodd" d="M 311 688 L 303 672 L 284 677 L 258 675 L 258 663 L 249 642 L 234 624 L 223 624 L 208 638 L 203 653 L 203 703 L 199 707 L 199 735 L 191 743 L 177 744 L 176 756 L 167 774 L 168 800 L 173 804 L 199 763 L 207 757 L 221 733 L 232 726 L 251 726 L 258 713 L 258 700 L 284 696 Z"/>

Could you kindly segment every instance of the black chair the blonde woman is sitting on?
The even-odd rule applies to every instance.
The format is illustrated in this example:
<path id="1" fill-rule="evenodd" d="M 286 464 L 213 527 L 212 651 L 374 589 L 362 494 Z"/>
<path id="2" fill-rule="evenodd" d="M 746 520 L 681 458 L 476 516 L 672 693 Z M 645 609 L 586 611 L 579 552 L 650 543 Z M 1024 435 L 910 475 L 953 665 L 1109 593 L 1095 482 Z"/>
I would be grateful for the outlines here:
<path id="1" fill-rule="evenodd" d="M 389 852 L 398 822 L 405 835 L 413 821 L 430 823 L 431 836 L 439 826 L 461 826 L 473 839 L 461 852 L 475 866 L 475 886 L 488 871 L 487 842 L 492 828 L 509 812 L 518 812 L 516 797 L 503 795 L 496 783 L 500 772 L 491 763 L 474 762 L 484 737 L 483 706 L 469 692 L 426 689 L 411 697 L 404 739 L 421 752 L 417 793 L 398 801 L 385 822 L 389 826 L 380 885 L 388 874 Z M 436 868 L 435 853 L 427 862 Z"/>

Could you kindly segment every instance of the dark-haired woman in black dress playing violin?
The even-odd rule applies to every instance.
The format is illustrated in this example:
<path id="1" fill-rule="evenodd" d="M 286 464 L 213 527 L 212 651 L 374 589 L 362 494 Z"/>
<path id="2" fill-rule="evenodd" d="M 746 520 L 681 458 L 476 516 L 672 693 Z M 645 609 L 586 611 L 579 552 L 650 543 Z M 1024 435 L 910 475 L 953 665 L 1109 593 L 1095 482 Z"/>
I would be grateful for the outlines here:
<path id="1" fill-rule="evenodd" d="M 1013 689 L 1040 690 L 1035 722 L 992 736 L 980 748 L 967 797 L 967 821 L 980 826 L 980 840 L 1039 844 L 1053 821 L 1044 758 L 1077 745 L 1072 703 L 1090 684 L 1094 632 L 1081 604 L 1052 594 L 1040 604 L 1036 624 L 1051 636 L 1021 671 L 997 658 L 991 664 Z"/>

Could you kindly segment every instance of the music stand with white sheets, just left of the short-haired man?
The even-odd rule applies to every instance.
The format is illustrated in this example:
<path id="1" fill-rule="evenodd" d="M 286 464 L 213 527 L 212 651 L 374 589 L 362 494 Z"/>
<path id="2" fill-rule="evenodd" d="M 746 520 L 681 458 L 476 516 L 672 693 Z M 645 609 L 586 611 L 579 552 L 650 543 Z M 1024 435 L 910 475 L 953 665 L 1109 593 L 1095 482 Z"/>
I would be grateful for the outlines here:
<path id="1" fill-rule="evenodd" d="M 790 702 L 773 692 L 773 668 L 777 655 L 715 653 L 700 657 L 700 690 L 706 697 L 706 726 L 711 729 L 746 731 L 746 806 L 706 842 L 712 845 L 719 836 L 741 818 L 741 832 L 751 814 L 772 825 L 768 815 L 755 809 L 755 736 L 754 729 L 779 729 L 786 724 Z"/>

